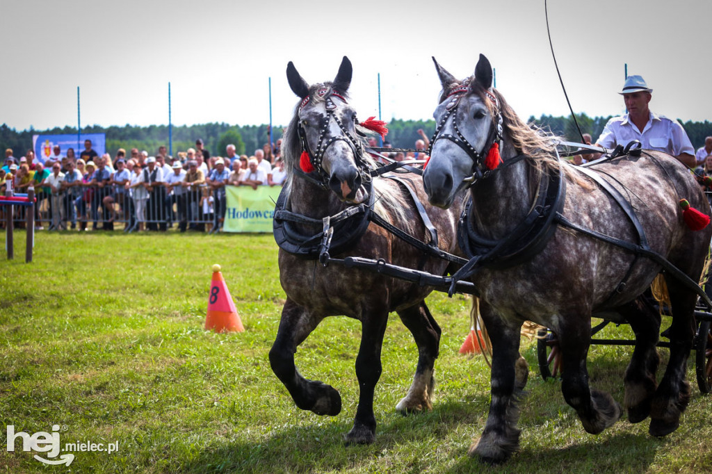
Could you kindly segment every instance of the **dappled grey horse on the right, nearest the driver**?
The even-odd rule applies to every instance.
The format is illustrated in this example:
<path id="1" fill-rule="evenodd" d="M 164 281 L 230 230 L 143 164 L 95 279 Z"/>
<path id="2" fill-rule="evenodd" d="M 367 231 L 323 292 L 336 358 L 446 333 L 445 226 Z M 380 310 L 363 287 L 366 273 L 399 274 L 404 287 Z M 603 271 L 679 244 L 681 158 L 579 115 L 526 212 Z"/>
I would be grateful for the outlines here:
<path id="1" fill-rule="evenodd" d="M 562 393 L 585 430 L 597 434 L 619 419 L 619 404 L 609 394 L 590 389 L 588 383 L 591 317 L 602 311 L 619 313 L 636 335 L 624 376 L 629 421 L 637 423 L 650 416 L 651 435 L 671 433 L 679 426 L 690 397 L 684 377 L 695 331 L 697 295 L 682 283 L 684 278 L 664 273 L 673 320 L 669 364 L 657 385 L 660 317 L 637 297 L 649 287 L 661 265 L 652 257 L 593 238 L 582 229 L 635 244 L 641 241 L 641 245 L 646 239 L 652 251 L 697 282 L 712 228 L 691 231 L 678 203 L 686 198 L 709 215 L 710 207 L 699 185 L 683 164 L 662 152 L 646 150 L 638 157 L 629 155 L 590 168 L 629 201 L 642 228 L 637 232 L 636 217 L 629 217 L 624 206 L 617 204 L 612 197 L 615 191 L 604 191 L 603 184 L 585 174 L 587 170 L 559 162 L 551 137 L 525 125 L 491 88 L 492 69 L 484 56 L 480 56 L 474 76 L 462 81 L 435 64 L 443 92 L 434 113 L 437 136 L 431 142 L 423 181 L 431 204 L 445 209 L 458 191 L 471 186 L 467 221 L 468 233 L 475 236 L 470 239 L 473 246 L 493 248 L 511 242 L 520 223 L 532 215 L 533 206 L 556 208 L 554 201 L 541 201 L 540 194 L 548 193 L 542 185 L 553 183 L 555 177 L 565 185 L 560 207 L 540 211 L 539 220 L 551 215 L 547 212 L 558 212 L 548 240 L 537 243 L 540 248 L 514 265 L 483 265 L 468 272 L 480 293 L 480 309 L 493 347 L 490 411 L 470 454 L 497 463 L 518 448 L 517 404 L 523 384 L 515 377 L 515 361 L 524 320 L 556 332 L 562 352 Z M 484 169 L 483 157 L 500 137 L 502 162 Z M 572 225 L 562 226 L 566 222 Z M 526 244 L 523 238 L 522 245 Z"/>

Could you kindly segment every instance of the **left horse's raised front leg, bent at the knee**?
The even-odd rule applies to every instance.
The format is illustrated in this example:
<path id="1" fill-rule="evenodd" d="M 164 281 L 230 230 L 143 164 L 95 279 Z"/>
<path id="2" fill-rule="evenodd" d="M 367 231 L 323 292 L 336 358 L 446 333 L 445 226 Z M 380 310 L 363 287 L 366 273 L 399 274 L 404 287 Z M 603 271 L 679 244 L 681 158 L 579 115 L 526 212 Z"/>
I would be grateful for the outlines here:
<path id="1" fill-rule="evenodd" d="M 302 410 L 335 416 L 341 411 L 341 396 L 328 384 L 305 379 L 294 365 L 294 353 L 323 318 L 311 315 L 289 297 L 282 308 L 277 337 L 269 352 L 272 371 L 286 386 L 294 403 Z"/>

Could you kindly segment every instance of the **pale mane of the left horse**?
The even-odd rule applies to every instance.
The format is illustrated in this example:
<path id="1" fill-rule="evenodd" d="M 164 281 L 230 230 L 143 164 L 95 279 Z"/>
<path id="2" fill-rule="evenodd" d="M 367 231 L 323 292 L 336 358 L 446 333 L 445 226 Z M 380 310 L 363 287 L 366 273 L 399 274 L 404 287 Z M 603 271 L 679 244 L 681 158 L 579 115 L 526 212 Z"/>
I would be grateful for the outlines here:
<path id="1" fill-rule="evenodd" d="M 324 102 L 325 97 L 319 97 L 315 92 L 323 88 L 333 88 L 333 83 L 317 83 L 309 88 L 309 103 L 317 104 Z M 341 90 L 338 91 L 345 99 L 348 99 L 348 95 Z M 286 193 L 289 195 L 291 193 L 291 184 L 293 182 L 294 167 L 299 166 L 299 159 L 302 154 L 302 144 L 299 139 L 299 134 L 297 132 L 297 126 L 299 123 L 299 106 L 301 105 L 301 100 L 297 102 L 294 107 L 294 114 L 292 120 L 290 120 L 289 125 L 287 125 L 286 130 L 282 136 L 282 159 L 284 160 L 284 169 L 287 171 L 287 179 L 285 181 L 284 187 L 286 188 Z M 357 130 L 363 133 L 373 134 L 372 131 L 367 130 L 363 127 L 357 126 Z M 364 144 L 366 140 L 357 136 Z M 375 169 L 377 167 L 377 162 L 371 157 L 370 154 L 364 153 L 363 160 L 367 163 L 368 167 Z M 375 211 L 381 214 L 387 220 L 391 220 L 395 226 L 401 228 L 404 231 L 412 232 L 413 226 L 412 221 L 407 218 L 404 209 L 410 206 L 407 199 L 404 197 L 404 193 L 401 191 L 399 184 L 395 183 L 390 179 L 376 178 L 373 180 L 373 192 L 376 193 L 375 196 Z"/>

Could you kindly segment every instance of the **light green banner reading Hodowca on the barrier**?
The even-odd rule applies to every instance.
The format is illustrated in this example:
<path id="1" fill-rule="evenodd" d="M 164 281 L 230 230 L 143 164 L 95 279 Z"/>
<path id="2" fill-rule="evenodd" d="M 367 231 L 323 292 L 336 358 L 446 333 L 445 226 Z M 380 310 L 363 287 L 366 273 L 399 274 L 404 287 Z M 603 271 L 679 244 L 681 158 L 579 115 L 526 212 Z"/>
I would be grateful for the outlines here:
<path id="1" fill-rule="evenodd" d="M 225 232 L 272 233 L 274 203 L 282 186 L 225 186 Z"/>

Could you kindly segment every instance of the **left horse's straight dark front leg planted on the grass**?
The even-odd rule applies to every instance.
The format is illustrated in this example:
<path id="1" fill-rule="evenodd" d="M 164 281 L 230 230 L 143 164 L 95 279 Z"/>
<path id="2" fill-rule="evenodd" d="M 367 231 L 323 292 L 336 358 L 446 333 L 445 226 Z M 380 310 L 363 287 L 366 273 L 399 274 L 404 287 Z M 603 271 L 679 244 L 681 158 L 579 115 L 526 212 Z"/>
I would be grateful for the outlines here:
<path id="1" fill-rule="evenodd" d="M 387 310 L 366 310 L 363 313 L 361 345 L 356 357 L 359 399 L 354 426 L 344 435 L 347 444 L 370 444 L 376 438 L 373 394 L 381 376 L 381 346 L 387 322 Z"/>

